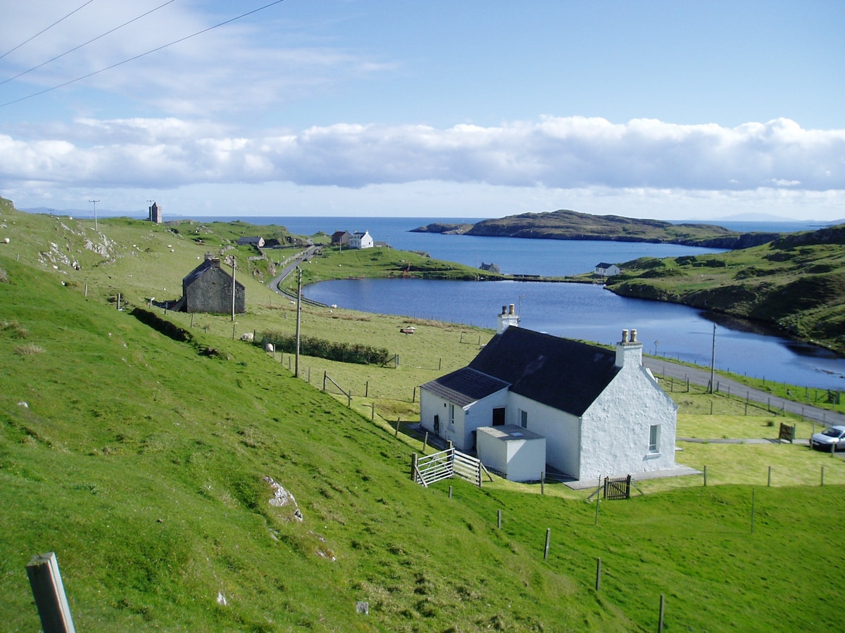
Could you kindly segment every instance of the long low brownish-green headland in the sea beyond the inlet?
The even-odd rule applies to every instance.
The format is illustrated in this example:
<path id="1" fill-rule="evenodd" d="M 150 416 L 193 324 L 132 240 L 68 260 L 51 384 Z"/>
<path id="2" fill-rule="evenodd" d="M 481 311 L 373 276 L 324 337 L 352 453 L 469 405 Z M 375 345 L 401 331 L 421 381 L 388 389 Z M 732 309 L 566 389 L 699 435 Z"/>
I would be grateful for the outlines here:
<path id="1" fill-rule="evenodd" d="M 717 225 L 583 214 L 568 209 L 484 219 L 475 224 L 434 223 L 413 232 L 532 240 L 644 241 L 726 249 L 760 246 L 781 236 L 768 232 L 740 233 Z"/>

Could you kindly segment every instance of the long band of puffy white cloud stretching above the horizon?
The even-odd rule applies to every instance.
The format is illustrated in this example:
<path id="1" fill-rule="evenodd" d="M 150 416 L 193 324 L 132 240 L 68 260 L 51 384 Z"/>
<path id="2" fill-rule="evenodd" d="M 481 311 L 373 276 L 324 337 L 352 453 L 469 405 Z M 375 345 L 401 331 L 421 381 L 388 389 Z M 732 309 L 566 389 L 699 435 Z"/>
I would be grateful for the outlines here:
<path id="1" fill-rule="evenodd" d="M 237 134 L 212 122 L 79 119 L 55 138 L 0 135 L 0 179 L 99 187 L 415 181 L 509 187 L 845 189 L 845 130 L 546 116 L 497 127 L 338 123 Z"/>

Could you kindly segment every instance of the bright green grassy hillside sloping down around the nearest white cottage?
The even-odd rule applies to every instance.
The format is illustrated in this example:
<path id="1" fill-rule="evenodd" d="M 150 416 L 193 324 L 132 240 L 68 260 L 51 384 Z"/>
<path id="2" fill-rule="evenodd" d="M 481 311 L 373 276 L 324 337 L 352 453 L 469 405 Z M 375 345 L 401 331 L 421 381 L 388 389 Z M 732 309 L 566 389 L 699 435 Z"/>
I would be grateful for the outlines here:
<path id="1" fill-rule="evenodd" d="M 722 485 L 656 482 L 598 514 L 586 492 L 559 485 L 423 489 L 408 477 L 420 442 L 388 424 L 412 419 L 413 385 L 464 365 L 490 333 L 417 322 L 406 336 L 406 319 L 309 308 L 309 333 L 402 361 L 306 359 L 313 380 L 296 379 L 289 357 L 237 340 L 294 327 L 290 302 L 262 284 L 273 262 L 244 263 L 249 307 L 234 324 L 156 308 L 186 336 L 145 324 L 137 310 L 177 298 L 205 250 L 232 252 L 244 227 L 228 224 L 194 226 L 199 244 L 187 225 L 106 219 L 97 234 L 89 221 L 0 208 L 5 630 L 38 628 L 25 565 L 44 551 L 57 552 L 78 630 L 654 630 L 661 594 L 667 630 L 838 630 L 836 601 L 820 597 L 845 582 L 820 542 L 842 535 L 842 460 L 690 446 L 679 461 L 711 464 Z M 351 408 L 319 390 L 323 371 L 352 388 Z M 682 398 L 688 411 L 697 396 Z M 726 411 L 708 422 L 729 431 L 690 413 L 679 424 L 690 435 L 765 428 Z M 775 463 L 780 479 L 766 487 L 765 468 L 735 479 L 734 463 Z M 812 484 L 820 466 L 824 487 Z M 295 505 L 270 505 L 266 478 Z"/>

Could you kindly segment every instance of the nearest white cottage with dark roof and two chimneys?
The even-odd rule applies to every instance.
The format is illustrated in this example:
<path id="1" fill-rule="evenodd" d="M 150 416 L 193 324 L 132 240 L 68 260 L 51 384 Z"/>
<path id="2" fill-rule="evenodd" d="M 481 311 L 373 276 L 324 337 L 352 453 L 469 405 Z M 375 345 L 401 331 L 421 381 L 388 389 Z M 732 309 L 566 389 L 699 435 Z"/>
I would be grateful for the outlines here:
<path id="1" fill-rule="evenodd" d="M 510 320 L 504 310 L 502 317 Z M 466 367 L 421 387 L 424 429 L 460 451 L 477 447 L 482 463 L 508 479 L 539 479 L 547 464 L 575 480 L 675 468 L 678 407 L 642 366 L 636 330 L 623 330 L 608 350 L 513 326 L 500 327 Z M 501 453 L 510 449 L 492 449 L 496 434 L 488 427 L 500 431 L 493 440 L 531 445 L 521 448 L 515 468 L 501 468 Z M 512 427 L 532 435 L 523 441 Z"/>

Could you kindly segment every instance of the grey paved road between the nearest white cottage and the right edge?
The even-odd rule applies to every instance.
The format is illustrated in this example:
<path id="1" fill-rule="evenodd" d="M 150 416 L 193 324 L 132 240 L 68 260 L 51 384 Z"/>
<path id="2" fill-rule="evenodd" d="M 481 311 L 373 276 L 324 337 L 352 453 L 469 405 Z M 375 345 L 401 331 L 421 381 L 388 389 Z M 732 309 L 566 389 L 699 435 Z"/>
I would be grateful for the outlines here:
<path id="1" fill-rule="evenodd" d="M 684 383 L 689 378 L 690 382 L 696 385 L 706 386 L 710 383 L 710 371 L 695 369 L 687 365 L 679 365 L 678 363 L 673 363 L 671 360 L 647 358 L 646 356 L 643 356 L 642 363 L 655 376 L 671 377 L 675 381 L 683 381 Z M 746 387 L 739 382 L 729 380 L 718 374 L 716 376 L 716 382 L 720 392 L 728 392 L 730 390 L 732 395 L 739 397 L 745 396 L 755 403 L 764 405 L 768 405 L 771 402 L 772 411 L 780 411 L 782 408 L 785 408 L 791 414 L 804 415 L 804 418 L 815 420 L 822 425 L 845 425 L 845 415 L 834 411 L 826 411 L 826 409 L 814 407 L 810 404 L 796 403 L 791 400 L 776 398 L 771 393 Z"/>

